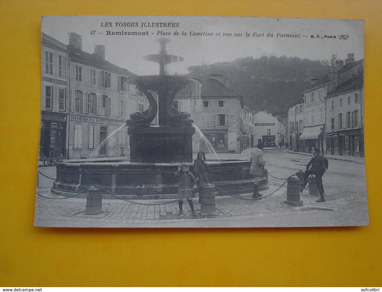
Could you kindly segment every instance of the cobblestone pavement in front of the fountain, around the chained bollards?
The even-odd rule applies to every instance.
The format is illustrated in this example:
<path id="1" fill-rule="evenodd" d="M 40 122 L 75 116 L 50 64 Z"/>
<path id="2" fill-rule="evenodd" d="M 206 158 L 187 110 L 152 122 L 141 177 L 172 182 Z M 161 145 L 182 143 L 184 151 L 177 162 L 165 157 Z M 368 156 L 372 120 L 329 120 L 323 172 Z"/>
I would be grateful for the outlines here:
<path id="1" fill-rule="evenodd" d="M 39 168 L 41 173 L 55 178 L 55 167 Z M 275 191 L 284 181 L 269 178 L 269 189 L 262 191 L 263 196 Z M 172 227 L 173 223 L 187 223 L 188 227 L 203 227 L 205 220 L 214 220 L 213 227 L 223 227 L 220 219 L 230 219 L 240 216 L 253 218 L 262 216 L 274 216 L 283 214 L 299 214 L 308 212 L 322 212 L 337 210 L 345 207 L 353 196 L 341 196 L 335 188 L 325 187 L 326 202 L 317 203 L 317 197 L 308 195 L 308 188 L 301 194 L 303 207 L 291 207 L 285 204 L 286 184 L 277 192 L 261 200 L 244 201 L 230 196 L 216 197 L 216 215 L 200 215 L 200 205 L 194 198 L 194 206 L 197 217 L 191 215 L 188 204 L 183 204 L 183 214 L 178 215 L 177 202 L 160 205 L 144 206 L 125 202 L 118 199 L 104 199 L 102 201 L 102 214 L 85 215 L 86 199 L 68 198 L 58 199 L 50 192 L 52 179 L 39 175 L 39 188 L 37 193 L 56 199 L 47 199 L 36 196 L 36 226 L 56 227 Z M 236 195 L 243 198 L 251 198 L 251 194 Z M 136 200 L 137 202 L 163 202 L 168 200 Z M 216 221 L 217 220 L 217 221 Z M 221 221 L 221 220 L 220 220 Z M 179 227 L 179 225 L 177 225 Z M 181 227 L 181 226 L 180 226 Z M 209 224 L 209 227 L 210 224 Z M 240 227 L 237 226 L 237 227 Z"/>

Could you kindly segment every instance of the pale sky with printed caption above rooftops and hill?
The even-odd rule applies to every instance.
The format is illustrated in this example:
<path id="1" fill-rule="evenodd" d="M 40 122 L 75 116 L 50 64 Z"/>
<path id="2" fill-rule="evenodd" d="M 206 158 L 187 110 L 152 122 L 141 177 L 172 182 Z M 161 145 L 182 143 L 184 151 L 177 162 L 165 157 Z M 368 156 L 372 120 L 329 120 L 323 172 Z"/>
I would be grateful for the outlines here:
<path id="1" fill-rule="evenodd" d="M 158 54 L 158 39 L 162 37 L 170 39 L 166 45 L 167 54 L 184 58 L 184 61 L 171 64 L 168 68 L 170 72 L 179 74 L 188 73 L 189 66 L 230 62 L 250 56 L 286 55 L 330 60 L 334 54 L 338 60 L 345 60 L 347 54 L 353 53 L 354 59 L 359 60 L 363 59 L 364 53 L 363 20 L 237 16 L 43 16 L 41 31 L 63 44 L 69 44 L 68 33 L 77 33 L 83 36 L 83 51 L 88 53 L 94 52 L 95 45 L 104 45 L 107 61 L 137 75 L 159 74 L 159 65 L 142 57 Z"/>

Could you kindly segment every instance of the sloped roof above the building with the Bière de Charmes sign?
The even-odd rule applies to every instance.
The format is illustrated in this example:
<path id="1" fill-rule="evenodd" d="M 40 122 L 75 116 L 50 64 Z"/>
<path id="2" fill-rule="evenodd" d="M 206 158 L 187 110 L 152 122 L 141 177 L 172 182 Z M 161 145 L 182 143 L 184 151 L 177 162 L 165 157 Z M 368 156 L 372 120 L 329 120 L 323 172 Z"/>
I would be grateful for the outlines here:
<path id="1" fill-rule="evenodd" d="M 127 69 L 118 67 L 117 65 L 114 65 L 108 62 L 107 60 L 101 59 L 100 57 L 94 54 L 89 54 L 84 51 L 70 49 L 69 58 L 75 62 L 83 63 L 86 65 L 92 65 L 94 67 L 110 70 L 110 71 L 121 73 L 128 76 L 137 76 L 136 74 L 131 73 Z"/>

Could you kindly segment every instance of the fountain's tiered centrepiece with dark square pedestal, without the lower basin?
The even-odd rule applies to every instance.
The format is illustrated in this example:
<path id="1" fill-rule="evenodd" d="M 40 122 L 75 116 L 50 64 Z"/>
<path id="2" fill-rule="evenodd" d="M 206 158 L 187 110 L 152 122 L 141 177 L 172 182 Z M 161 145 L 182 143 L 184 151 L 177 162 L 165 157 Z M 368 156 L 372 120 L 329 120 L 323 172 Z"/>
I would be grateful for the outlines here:
<path id="1" fill-rule="evenodd" d="M 168 55 L 166 44 L 169 39 L 161 38 L 160 51 L 143 59 L 159 63 L 159 75 L 137 76 L 125 82 L 136 85 L 149 100 L 149 108 L 143 113 L 133 113 L 126 121 L 130 136 L 130 161 L 143 163 L 192 162 L 192 135 L 195 133 L 190 114 L 174 108 L 176 93 L 199 80 L 166 75 L 167 64 L 183 61 L 182 57 Z M 151 93 L 156 91 L 158 104 Z M 150 127 L 156 114 L 159 127 Z"/>

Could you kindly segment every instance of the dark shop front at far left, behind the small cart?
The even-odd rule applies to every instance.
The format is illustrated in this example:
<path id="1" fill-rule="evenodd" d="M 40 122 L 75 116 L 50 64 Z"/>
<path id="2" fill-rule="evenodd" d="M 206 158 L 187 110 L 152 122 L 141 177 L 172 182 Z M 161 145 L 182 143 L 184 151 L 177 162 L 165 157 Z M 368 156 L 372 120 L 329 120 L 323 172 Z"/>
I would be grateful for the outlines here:
<path id="1" fill-rule="evenodd" d="M 39 156 L 49 157 L 49 153 L 61 149 L 66 157 L 66 126 L 68 114 L 41 112 Z"/>

